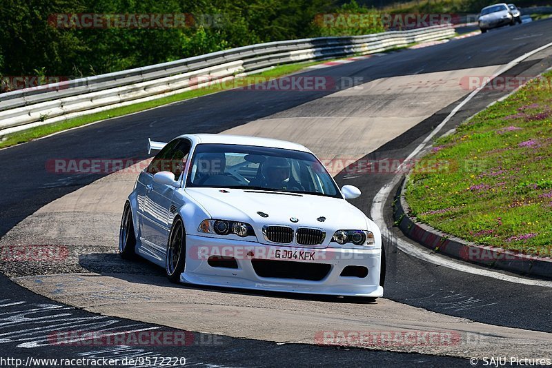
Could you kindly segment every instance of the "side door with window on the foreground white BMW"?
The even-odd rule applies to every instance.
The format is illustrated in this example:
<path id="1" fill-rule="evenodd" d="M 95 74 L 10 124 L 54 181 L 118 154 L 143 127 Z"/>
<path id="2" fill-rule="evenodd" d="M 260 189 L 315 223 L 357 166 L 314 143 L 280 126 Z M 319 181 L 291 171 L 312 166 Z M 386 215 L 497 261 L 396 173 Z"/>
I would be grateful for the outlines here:
<path id="1" fill-rule="evenodd" d="M 175 178 L 181 181 L 184 172 L 184 163 L 190 153 L 191 143 L 188 139 L 177 139 L 176 144 L 171 145 L 152 167 L 150 174 L 152 180 L 149 186 L 146 185 L 146 198 L 144 211 L 144 238 L 146 243 L 152 247 L 159 258 L 164 258 L 170 223 L 172 219 L 171 205 L 172 198 L 177 188 L 172 185 L 156 183 L 153 180 L 155 172 L 168 171 L 175 174 Z M 171 142 L 172 143 L 172 142 Z M 159 152 L 161 153 L 161 152 Z M 174 207 L 172 206 L 172 211 Z M 156 257 L 157 258 L 157 257 Z"/>

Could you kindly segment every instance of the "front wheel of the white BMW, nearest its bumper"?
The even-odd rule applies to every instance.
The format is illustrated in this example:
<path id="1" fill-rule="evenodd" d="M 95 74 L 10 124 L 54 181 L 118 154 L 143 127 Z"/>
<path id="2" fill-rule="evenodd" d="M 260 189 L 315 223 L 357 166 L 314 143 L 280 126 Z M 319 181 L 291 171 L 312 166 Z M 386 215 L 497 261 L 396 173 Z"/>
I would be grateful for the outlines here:
<path id="1" fill-rule="evenodd" d="M 182 219 L 177 217 L 172 223 L 167 241 L 165 274 L 171 283 L 180 282 L 180 274 L 186 266 L 186 229 Z"/>

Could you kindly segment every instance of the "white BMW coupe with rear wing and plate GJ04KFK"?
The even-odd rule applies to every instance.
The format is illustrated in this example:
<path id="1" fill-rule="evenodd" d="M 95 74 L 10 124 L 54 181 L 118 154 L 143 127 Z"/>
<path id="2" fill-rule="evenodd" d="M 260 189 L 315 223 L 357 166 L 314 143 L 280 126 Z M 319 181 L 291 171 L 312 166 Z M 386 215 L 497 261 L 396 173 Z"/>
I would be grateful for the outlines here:
<path id="1" fill-rule="evenodd" d="M 123 258 L 172 282 L 342 296 L 383 295 L 380 229 L 297 143 L 187 134 L 159 150 L 124 207 Z"/>

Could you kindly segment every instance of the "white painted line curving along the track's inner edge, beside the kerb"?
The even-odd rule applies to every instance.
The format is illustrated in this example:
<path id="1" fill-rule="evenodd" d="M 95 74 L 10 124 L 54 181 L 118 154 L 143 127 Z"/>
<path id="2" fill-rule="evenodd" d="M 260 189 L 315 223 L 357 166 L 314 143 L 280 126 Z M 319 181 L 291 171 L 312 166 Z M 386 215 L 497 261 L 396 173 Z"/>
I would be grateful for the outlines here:
<path id="1" fill-rule="evenodd" d="M 551 43 L 546 43 L 546 45 L 541 46 L 540 48 L 536 48 L 535 50 L 532 50 L 530 52 L 527 52 L 526 54 L 523 54 L 520 57 L 517 57 L 513 61 L 510 61 L 508 64 L 504 65 L 504 68 L 498 70 L 493 76 L 492 79 L 495 79 L 495 77 L 499 76 L 500 74 L 506 72 L 507 70 L 510 70 L 513 68 L 513 66 L 517 65 L 524 59 L 527 59 L 528 57 L 531 57 L 533 54 L 536 54 L 537 52 L 540 52 L 546 48 L 549 48 L 552 46 Z M 452 117 L 464 106 L 466 103 L 468 103 L 475 94 L 480 92 L 484 88 L 484 85 L 480 85 L 476 90 L 471 92 L 460 104 L 458 104 L 449 115 L 446 116 L 446 118 L 439 124 L 435 129 L 426 136 L 426 139 L 420 145 L 418 145 L 415 150 L 411 154 L 408 155 L 408 157 L 404 160 L 404 162 L 409 162 L 414 156 L 419 154 L 424 147 L 433 139 L 433 137 L 442 130 L 444 125 L 449 122 Z M 397 172 L 400 172 L 400 169 L 403 164 L 401 164 L 397 168 Z M 471 265 L 469 263 L 464 263 L 459 260 L 455 260 L 453 258 L 449 258 L 447 256 L 442 256 L 440 254 L 435 254 L 433 251 L 427 248 L 422 248 L 420 245 L 416 245 L 415 243 L 411 243 L 410 241 L 406 241 L 402 238 L 395 237 L 387 227 L 387 224 L 384 219 L 384 205 L 387 201 L 388 196 L 391 194 L 391 190 L 393 190 L 393 187 L 397 185 L 402 176 L 401 175 L 395 175 L 393 180 L 391 180 L 389 183 L 384 185 L 379 192 L 374 196 L 372 201 L 372 208 L 371 208 L 371 216 L 373 218 L 373 221 L 376 223 L 378 227 L 380 227 L 380 230 L 382 231 L 382 236 L 388 238 L 391 241 L 395 241 L 397 244 L 397 248 L 402 250 L 402 252 L 409 254 L 411 256 L 415 256 L 416 258 L 419 258 L 421 260 L 424 260 L 428 263 L 433 263 L 434 265 L 440 265 L 444 267 L 448 267 L 450 269 L 455 269 L 460 272 L 466 272 L 469 274 L 476 274 L 480 276 L 486 276 L 495 278 L 497 280 L 503 280 L 508 281 L 510 283 L 518 283 L 518 284 L 524 284 L 524 285 L 531 285 L 531 286 L 540 286 L 540 287 L 552 287 L 551 281 L 542 281 L 542 280 L 533 280 L 531 278 L 523 278 L 521 276 L 511 276 L 507 274 L 503 274 L 502 272 L 497 272 L 491 269 L 484 269 L 479 266 Z"/>

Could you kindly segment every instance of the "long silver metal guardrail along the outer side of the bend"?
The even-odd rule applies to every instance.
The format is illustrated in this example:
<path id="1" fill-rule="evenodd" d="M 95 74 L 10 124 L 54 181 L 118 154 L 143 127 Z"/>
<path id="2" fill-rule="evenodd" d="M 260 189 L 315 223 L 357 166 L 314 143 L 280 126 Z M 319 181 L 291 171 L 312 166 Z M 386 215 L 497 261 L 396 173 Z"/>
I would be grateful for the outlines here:
<path id="1" fill-rule="evenodd" d="M 73 79 L 0 94 L 0 137 L 201 88 L 213 81 L 284 63 L 370 54 L 422 41 L 452 37 L 450 24 L 354 37 L 321 37 L 259 43 L 220 52 Z"/>

